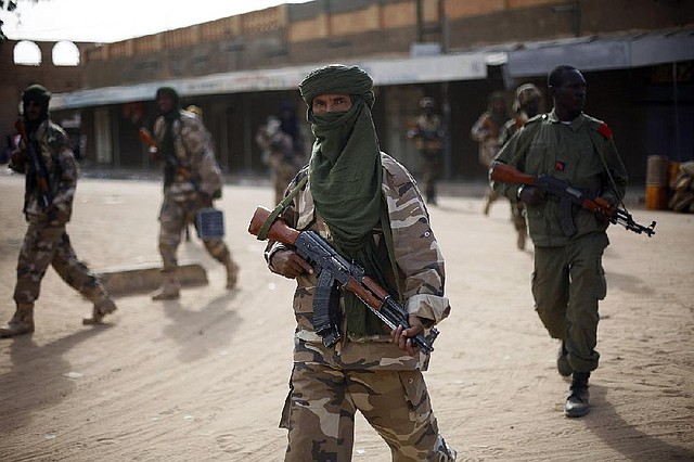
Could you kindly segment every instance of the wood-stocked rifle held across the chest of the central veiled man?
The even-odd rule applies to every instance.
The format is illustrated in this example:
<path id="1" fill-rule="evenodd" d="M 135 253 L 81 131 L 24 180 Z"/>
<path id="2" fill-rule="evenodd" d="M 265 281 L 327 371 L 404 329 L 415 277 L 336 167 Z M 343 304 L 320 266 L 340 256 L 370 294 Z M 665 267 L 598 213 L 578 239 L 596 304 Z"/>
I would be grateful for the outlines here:
<path id="1" fill-rule="evenodd" d="M 248 226 L 248 232 L 258 236 L 271 211 L 264 207 L 256 208 Z M 273 241 L 296 247 L 301 258 L 307 260 L 318 274 L 318 284 L 313 297 L 313 329 L 323 337 L 325 346 L 335 345 L 342 337 L 339 315 L 335 308 L 336 300 L 332 295 L 335 288 L 343 288 L 355 294 L 373 311 L 388 328 L 408 329 L 407 310 L 397 303 L 388 292 L 364 273 L 359 265 L 349 262 L 339 255 L 317 232 L 297 231 L 290 228 L 281 219 L 275 219 L 270 226 L 267 236 Z M 332 307 L 331 307 L 332 305 Z M 428 335 L 417 334 L 412 343 L 425 354 L 434 351 L 434 341 L 438 336 L 436 328 L 432 328 Z"/>

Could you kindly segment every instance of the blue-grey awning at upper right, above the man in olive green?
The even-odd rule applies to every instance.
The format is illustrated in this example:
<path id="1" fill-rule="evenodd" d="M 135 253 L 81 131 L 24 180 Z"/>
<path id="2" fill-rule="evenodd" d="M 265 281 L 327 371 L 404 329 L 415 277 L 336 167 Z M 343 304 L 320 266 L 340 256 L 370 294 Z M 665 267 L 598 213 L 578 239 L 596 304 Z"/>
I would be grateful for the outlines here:
<path id="1" fill-rule="evenodd" d="M 694 60 L 694 29 L 622 37 L 529 42 L 507 51 L 511 77 L 547 75 L 561 64 L 581 70 L 609 70 Z"/>

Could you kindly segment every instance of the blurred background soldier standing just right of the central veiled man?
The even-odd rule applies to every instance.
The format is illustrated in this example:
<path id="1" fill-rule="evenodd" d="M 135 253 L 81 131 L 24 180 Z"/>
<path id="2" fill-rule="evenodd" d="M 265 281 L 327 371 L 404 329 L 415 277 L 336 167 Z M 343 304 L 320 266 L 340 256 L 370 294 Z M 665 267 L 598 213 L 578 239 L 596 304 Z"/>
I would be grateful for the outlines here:
<path id="1" fill-rule="evenodd" d="M 422 161 L 422 181 L 426 203 L 436 205 L 436 182 L 441 176 L 446 131 L 444 121 L 438 114 L 434 113 L 436 101 L 433 98 L 422 98 L 420 107 L 422 114 L 414 121 L 414 127 L 408 130 L 408 138 L 414 140 Z"/>

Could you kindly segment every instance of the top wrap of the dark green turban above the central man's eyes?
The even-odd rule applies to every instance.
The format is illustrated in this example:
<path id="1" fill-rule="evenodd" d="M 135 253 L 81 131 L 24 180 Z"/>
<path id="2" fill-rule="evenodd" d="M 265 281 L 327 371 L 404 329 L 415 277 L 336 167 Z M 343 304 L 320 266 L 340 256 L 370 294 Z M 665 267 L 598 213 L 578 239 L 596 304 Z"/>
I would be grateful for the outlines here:
<path id="1" fill-rule="evenodd" d="M 373 80 L 359 66 L 331 64 L 312 70 L 299 84 L 299 91 L 306 104 L 310 107 L 313 98 L 319 94 L 348 93 L 364 100 L 369 107 L 373 106 Z"/>

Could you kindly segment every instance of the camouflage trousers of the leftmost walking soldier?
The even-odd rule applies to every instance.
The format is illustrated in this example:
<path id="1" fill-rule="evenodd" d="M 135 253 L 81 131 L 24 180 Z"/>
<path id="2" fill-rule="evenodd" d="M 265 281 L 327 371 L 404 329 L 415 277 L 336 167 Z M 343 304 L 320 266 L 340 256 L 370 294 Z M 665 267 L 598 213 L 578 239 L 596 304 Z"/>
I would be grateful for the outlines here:
<path id="1" fill-rule="evenodd" d="M 48 267 L 91 301 L 105 296 L 97 277 L 77 258 L 65 232 L 65 226 L 29 222 L 17 260 L 17 283 L 14 300 L 31 304 L 39 297 L 41 280 Z"/>

